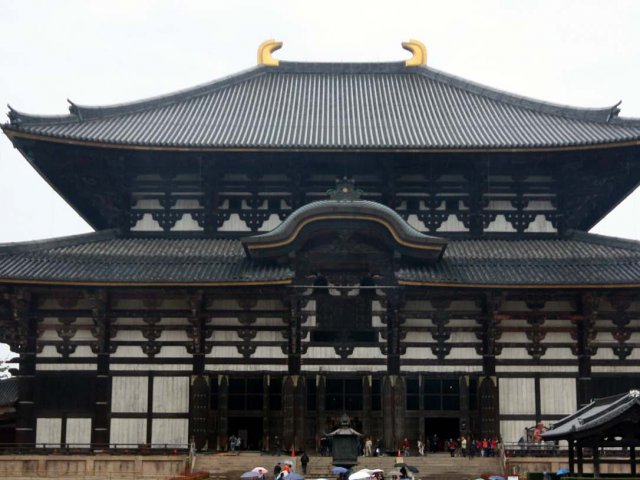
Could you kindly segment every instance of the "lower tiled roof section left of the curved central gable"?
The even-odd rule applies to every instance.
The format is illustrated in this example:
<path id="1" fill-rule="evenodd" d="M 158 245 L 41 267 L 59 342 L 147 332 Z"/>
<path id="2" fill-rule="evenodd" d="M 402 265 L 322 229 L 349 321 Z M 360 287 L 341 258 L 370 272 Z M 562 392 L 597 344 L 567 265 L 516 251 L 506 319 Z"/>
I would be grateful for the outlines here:
<path id="1" fill-rule="evenodd" d="M 253 283 L 289 269 L 253 265 L 237 240 L 118 238 L 114 231 L 0 246 L 0 279 L 91 283 Z"/>

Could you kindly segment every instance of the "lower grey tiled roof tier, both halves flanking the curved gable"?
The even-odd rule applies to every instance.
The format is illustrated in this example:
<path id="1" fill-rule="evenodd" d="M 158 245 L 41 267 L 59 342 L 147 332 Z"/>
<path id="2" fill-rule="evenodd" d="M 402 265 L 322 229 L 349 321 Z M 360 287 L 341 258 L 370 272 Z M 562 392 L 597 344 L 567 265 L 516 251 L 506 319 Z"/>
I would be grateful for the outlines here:
<path id="1" fill-rule="evenodd" d="M 237 239 L 126 238 L 114 230 L 0 245 L 0 283 L 289 284 L 291 267 L 249 259 Z M 399 284 L 640 288 L 640 242 L 582 232 L 553 239 L 449 240 L 434 264 L 401 266 Z"/>

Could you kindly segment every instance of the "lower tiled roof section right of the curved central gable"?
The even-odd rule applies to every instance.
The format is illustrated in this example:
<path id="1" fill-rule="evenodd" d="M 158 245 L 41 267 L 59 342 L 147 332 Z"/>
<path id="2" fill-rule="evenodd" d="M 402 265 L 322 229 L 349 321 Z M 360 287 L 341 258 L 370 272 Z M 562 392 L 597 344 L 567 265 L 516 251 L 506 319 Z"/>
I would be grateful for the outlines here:
<path id="1" fill-rule="evenodd" d="M 460 285 L 640 285 L 640 242 L 574 232 L 539 240 L 450 241 L 441 261 L 398 280 Z"/>

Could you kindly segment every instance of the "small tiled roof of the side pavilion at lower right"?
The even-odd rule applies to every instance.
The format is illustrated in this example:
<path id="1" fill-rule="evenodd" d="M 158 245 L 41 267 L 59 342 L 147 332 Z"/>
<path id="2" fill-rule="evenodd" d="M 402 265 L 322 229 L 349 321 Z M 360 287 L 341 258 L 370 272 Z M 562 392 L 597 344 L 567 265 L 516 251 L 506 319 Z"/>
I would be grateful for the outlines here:
<path id="1" fill-rule="evenodd" d="M 640 411 L 640 390 L 612 397 L 598 398 L 560 421 L 556 422 L 552 430 L 542 434 L 545 440 L 581 437 L 598 429 L 601 425 L 618 422 L 633 421 L 637 414 L 630 410 Z M 616 422 L 617 421 L 617 422 Z"/>

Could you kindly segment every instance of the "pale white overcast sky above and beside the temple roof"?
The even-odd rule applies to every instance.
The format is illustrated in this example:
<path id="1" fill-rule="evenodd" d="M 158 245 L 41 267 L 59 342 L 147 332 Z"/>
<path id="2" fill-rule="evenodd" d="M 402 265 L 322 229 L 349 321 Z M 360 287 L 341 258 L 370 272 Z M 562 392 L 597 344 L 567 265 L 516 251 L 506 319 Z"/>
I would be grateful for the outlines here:
<path id="1" fill-rule="evenodd" d="M 622 100 L 640 117 L 640 1 L 0 0 L 0 105 L 67 112 L 168 93 L 252 67 L 257 46 L 299 61 L 393 61 L 427 45 L 428 65 L 584 107 Z M 6 110 L 5 110 L 6 111 Z M 594 231 L 640 239 L 640 191 Z M 89 227 L 0 138 L 0 243 Z"/>

